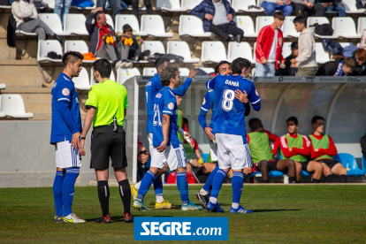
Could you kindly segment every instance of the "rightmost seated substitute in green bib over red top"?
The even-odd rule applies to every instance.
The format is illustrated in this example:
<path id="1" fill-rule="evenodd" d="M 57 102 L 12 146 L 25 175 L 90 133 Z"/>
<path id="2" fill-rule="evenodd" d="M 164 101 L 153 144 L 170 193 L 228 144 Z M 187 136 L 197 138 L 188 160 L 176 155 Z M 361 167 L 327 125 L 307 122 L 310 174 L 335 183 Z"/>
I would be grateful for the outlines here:
<path id="1" fill-rule="evenodd" d="M 339 162 L 334 160 L 337 149 L 332 138 L 324 133 L 323 117 L 316 115 L 311 119 L 314 133 L 309 135 L 311 141 L 310 158 L 323 165 L 323 174 L 329 183 L 334 182 L 333 175 L 339 176 L 339 182 L 347 182 L 347 170 Z"/>

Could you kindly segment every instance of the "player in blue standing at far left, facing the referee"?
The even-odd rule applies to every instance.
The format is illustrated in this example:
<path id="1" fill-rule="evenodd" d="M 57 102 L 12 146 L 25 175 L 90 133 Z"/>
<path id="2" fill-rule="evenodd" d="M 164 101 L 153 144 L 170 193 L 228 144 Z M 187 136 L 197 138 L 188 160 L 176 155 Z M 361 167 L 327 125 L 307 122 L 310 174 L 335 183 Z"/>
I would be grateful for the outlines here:
<path id="1" fill-rule="evenodd" d="M 56 223 L 85 223 L 84 219 L 72 213 L 74 185 L 81 167 L 78 149 L 81 133 L 80 106 L 72 78 L 79 76 L 83 58 L 80 52 L 65 53 L 62 58 L 64 71 L 58 76 L 51 91 L 50 143 L 55 145 L 56 153 L 56 177 L 53 183 Z"/>

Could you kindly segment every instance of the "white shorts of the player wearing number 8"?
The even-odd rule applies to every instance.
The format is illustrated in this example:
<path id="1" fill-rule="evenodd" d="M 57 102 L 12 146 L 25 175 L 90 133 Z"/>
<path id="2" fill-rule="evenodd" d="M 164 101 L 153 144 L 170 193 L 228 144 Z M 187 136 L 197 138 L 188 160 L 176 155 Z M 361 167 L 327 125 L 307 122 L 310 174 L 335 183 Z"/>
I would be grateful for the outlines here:
<path id="1" fill-rule="evenodd" d="M 216 133 L 217 163 L 220 169 L 242 170 L 252 166 L 248 144 L 236 134 Z"/>

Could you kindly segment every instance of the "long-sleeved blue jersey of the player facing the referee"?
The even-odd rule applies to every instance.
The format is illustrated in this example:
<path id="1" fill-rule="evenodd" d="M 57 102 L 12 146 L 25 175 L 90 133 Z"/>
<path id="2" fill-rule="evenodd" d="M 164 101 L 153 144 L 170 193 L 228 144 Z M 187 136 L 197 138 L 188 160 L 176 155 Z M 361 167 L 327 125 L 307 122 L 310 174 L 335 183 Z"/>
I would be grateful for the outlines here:
<path id="1" fill-rule="evenodd" d="M 71 141 L 73 133 L 81 133 L 79 96 L 71 78 L 61 72 L 53 85 L 51 95 L 50 143 Z"/>

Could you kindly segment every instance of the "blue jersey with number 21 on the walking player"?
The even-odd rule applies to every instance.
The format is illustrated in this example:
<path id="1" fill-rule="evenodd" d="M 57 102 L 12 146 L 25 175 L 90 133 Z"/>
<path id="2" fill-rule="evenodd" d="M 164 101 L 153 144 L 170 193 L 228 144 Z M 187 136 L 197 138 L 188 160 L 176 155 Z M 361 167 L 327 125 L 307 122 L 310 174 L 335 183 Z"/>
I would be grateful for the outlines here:
<path id="1" fill-rule="evenodd" d="M 170 118 L 169 126 L 169 141 L 167 145 L 179 145 L 180 141 L 177 135 L 177 118 L 178 118 L 178 106 L 177 99 L 172 88 L 164 87 L 160 90 L 155 97 L 154 101 L 154 116 L 153 116 L 153 145 L 160 146 L 164 141 L 163 135 L 163 114 L 168 114 Z"/>

